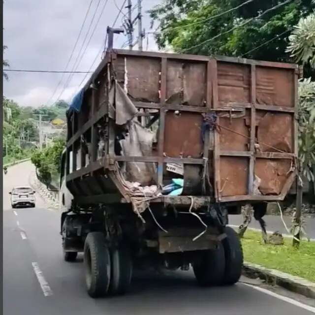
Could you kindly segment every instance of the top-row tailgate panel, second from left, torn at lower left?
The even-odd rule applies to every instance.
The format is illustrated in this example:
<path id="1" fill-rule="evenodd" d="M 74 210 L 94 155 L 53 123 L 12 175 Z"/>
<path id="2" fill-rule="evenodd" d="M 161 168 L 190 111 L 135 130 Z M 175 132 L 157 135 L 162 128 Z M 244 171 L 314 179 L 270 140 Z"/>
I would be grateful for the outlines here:
<path id="1" fill-rule="evenodd" d="M 169 60 L 166 98 L 182 94 L 180 104 L 204 106 L 206 101 L 207 63 Z"/>

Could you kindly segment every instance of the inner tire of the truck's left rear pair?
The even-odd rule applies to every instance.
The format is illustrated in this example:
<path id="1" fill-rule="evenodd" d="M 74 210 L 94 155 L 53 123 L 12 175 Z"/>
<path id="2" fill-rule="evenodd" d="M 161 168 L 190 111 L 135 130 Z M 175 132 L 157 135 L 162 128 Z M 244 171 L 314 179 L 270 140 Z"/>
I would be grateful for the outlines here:
<path id="1" fill-rule="evenodd" d="M 131 283 L 132 261 L 130 252 L 126 247 L 112 249 L 111 256 L 111 280 L 109 292 L 111 294 L 125 293 Z"/>

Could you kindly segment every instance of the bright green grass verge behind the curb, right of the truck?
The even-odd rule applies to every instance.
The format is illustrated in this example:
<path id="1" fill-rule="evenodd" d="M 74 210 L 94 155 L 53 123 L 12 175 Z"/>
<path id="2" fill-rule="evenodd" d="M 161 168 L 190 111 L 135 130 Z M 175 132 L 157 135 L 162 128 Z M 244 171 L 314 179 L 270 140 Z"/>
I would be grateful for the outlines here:
<path id="1" fill-rule="evenodd" d="M 251 230 L 241 241 L 245 261 L 315 282 L 315 242 L 302 241 L 299 249 L 289 238 L 284 238 L 284 245 L 264 244 L 261 233 Z"/>

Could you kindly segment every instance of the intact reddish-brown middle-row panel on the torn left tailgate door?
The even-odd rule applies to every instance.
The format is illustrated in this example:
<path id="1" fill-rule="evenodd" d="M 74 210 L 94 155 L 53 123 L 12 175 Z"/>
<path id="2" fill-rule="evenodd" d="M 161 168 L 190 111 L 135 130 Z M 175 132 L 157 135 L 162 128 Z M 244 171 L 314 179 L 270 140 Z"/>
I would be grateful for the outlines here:
<path id="1" fill-rule="evenodd" d="M 167 157 L 200 158 L 203 152 L 198 113 L 168 111 L 165 115 L 164 153 Z"/>

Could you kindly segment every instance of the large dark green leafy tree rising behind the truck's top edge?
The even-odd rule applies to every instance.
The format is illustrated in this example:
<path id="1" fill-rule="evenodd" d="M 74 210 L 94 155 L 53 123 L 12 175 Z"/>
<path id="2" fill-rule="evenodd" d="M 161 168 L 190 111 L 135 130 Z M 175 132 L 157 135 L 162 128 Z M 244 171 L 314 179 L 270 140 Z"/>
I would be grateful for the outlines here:
<path id="1" fill-rule="evenodd" d="M 288 32 L 315 4 L 296 0 L 251 20 L 277 4 L 278 0 L 165 0 L 149 13 L 159 22 L 155 35 L 159 48 L 284 62 L 290 60 L 285 53 Z"/>

